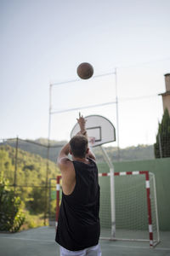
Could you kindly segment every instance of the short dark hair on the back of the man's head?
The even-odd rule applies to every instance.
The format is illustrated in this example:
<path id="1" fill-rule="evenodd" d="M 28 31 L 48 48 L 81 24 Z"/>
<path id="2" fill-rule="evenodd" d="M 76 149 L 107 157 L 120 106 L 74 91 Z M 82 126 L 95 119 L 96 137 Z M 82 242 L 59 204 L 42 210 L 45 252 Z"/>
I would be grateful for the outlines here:
<path id="1" fill-rule="evenodd" d="M 83 158 L 86 156 L 88 139 L 82 135 L 76 135 L 70 141 L 71 152 L 74 156 Z"/>

